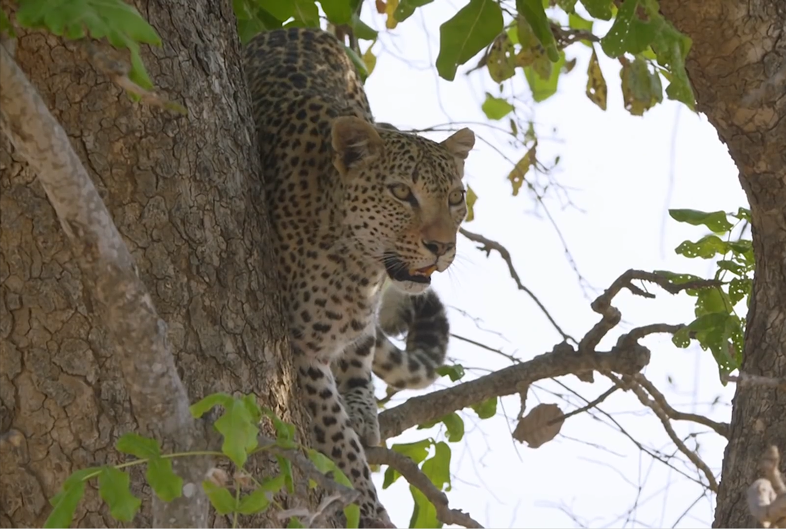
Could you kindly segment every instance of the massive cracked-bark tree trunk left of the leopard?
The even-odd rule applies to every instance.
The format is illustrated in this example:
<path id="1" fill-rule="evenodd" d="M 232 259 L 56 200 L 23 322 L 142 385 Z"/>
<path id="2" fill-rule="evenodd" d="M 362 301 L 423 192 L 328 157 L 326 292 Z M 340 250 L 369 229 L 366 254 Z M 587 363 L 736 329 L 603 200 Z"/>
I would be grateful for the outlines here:
<path id="1" fill-rule="evenodd" d="M 17 62 L 104 197 L 192 402 L 255 393 L 304 439 L 231 3 L 138 9 L 163 41 L 144 53 L 150 77 L 188 117 L 133 103 L 83 46 L 45 32 L 19 35 Z M 113 445 L 136 419 L 57 216 L 5 136 L 0 190 L 0 527 L 41 527 L 70 472 L 119 461 Z M 117 525 L 88 487 L 74 527 Z"/>

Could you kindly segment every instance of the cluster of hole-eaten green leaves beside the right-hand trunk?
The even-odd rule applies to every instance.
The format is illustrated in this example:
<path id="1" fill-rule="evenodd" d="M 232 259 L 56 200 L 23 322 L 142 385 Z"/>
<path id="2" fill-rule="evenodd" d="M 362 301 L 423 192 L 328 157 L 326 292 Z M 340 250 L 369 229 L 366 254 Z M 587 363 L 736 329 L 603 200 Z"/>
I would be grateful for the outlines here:
<path id="1" fill-rule="evenodd" d="M 714 274 L 719 286 L 686 291 L 689 296 L 696 297 L 696 319 L 674 333 L 673 341 L 678 347 L 688 347 L 691 340 L 696 340 L 705 351 L 709 349 L 724 381 L 725 375 L 742 363 L 745 318 L 736 314 L 735 307 L 743 300 L 746 306 L 749 303 L 755 264 L 751 241 L 741 236 L 733 240 L 732 233 L 740 224 L 750 222 L 751 212 L 744 208 L 736 213 L 672 209 L 669 214 L 678 222 L 705 226 L 712 232 L 698 241 L 683 241 L 675 252 L 689 259 L 719 258 Z M 735 222 L 729 222 L 729 218 Z M 700 279 L 663 270 L 659 274 L 669 277 L 675 284 Z"/>

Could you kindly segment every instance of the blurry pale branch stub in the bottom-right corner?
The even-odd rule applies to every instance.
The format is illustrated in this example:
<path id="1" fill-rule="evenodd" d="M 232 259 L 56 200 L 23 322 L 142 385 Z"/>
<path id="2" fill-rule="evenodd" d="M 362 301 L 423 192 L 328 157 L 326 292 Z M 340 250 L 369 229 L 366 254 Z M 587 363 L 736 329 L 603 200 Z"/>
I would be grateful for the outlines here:
<path id="1" fill-rule="evenodd" d="M 764 527 L 786 527 L 786 485 L 780 473 L 780 454 L 777 446 L 769 446 L 762 455 L 758 468 L 762 477 L 747 489 L 747 507 Z"/>

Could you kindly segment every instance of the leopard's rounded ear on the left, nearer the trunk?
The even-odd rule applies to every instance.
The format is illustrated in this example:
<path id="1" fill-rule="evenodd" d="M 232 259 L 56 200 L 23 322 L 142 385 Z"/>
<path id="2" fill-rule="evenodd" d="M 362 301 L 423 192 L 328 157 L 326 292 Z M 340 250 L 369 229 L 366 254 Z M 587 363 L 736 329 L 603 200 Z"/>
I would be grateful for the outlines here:
<path id="1" fill-rule="evenodd" d="M 365 119 L 341 116 L 332 123 L 333 165 L 341 174 L 379 157 L 384 144 L 380 134 Z"/>

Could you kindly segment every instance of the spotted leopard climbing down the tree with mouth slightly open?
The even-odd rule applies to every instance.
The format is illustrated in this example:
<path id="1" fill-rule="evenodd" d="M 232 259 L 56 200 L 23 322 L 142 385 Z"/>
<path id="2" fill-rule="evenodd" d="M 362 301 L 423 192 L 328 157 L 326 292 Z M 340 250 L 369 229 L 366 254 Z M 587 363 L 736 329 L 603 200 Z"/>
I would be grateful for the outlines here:
<path id="1" fill-rule="evenodd" d="M 372 373 L 426 388 L 445 361 L 449 325 L 432 275 L 456 255 L 475 134 L 437 142 L 377 124 L 329 31 L 263 31 L 244 46 L 243 68 L 312 446 L 359 491 L 362 519 L 391 524 L 364 450 L 381 441 Z M 390 336 L 405 333 L 400 349 Z"/>

